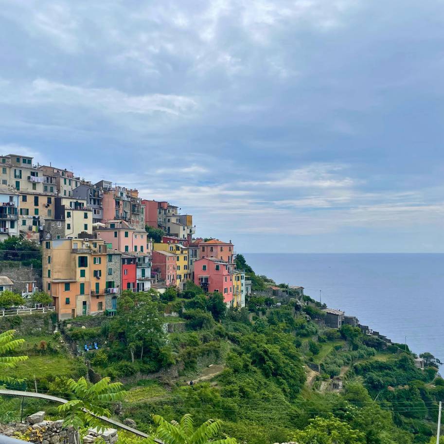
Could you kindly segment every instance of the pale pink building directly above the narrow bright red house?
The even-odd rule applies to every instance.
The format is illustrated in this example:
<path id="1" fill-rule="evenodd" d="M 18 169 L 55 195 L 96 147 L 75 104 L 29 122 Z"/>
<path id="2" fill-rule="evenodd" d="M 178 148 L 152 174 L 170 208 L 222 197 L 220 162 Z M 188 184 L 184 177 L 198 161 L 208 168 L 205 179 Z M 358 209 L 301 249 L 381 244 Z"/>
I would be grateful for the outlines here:
<path id="1" fill-rule="evenodd" d="M 110 220 L 106 228 L 98 229 L 97 235 L 107 244 L 112 244 L 112 248 L 122 253 L 146 253 L 146 231 L 132 228 L 124 220 Z"/>

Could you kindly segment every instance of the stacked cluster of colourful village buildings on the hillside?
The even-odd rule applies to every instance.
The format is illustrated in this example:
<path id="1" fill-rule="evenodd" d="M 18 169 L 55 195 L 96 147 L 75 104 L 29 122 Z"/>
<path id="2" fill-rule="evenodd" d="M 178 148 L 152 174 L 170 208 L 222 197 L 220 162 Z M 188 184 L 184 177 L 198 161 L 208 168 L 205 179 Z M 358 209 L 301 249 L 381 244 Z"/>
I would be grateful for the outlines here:
<path id="1" fill-rule="evenodd" d="M 220 292 L 227 306 L 245 306 L 251 284 L 236 269 L 231 240 L 194 238 L 193 216 L 177 206 L 28 156 L 8 154 L 0 163 L 0 239 L 41 243 L 42 290 L 59 319 L 112 315 L 124 290 L 162 293 L 186 281 Z M 165 235 L 153 242 L 145 227 Z"/>

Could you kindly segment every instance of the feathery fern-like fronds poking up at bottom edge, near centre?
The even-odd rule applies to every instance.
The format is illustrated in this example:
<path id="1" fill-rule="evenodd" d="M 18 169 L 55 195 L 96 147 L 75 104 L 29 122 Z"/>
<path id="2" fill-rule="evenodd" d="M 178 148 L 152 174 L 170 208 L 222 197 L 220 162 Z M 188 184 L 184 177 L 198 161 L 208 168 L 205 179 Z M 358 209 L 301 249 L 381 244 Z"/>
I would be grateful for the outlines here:
<path id="1" fill-rule="evenodd" d="M 213 437 L 220 433 L 222 422 L 220 420 L 209 419 L 195 429 L 193 418 L 190 414 L 185 414 L 180 422 L 171 421 L 169 423 L 160 415 L 154 415 L 154 422 L 157 424 L 156 435 L 165 444 L 236 444 L 234 438 L 223 438 L 213 440 Z M 154 443 L 154 441 L 152 441 Z"/>

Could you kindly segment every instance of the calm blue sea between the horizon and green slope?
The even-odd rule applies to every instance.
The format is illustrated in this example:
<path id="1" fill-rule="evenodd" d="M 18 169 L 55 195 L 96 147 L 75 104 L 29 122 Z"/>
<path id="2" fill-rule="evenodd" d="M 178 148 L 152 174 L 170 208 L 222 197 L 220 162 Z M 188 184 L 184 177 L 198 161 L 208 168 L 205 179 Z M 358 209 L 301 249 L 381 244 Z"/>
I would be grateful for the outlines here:
<path id="1" fill-rule="evenodd" d="M 444 361 L 444 254 L 244 254 L 257 274 Z"/>

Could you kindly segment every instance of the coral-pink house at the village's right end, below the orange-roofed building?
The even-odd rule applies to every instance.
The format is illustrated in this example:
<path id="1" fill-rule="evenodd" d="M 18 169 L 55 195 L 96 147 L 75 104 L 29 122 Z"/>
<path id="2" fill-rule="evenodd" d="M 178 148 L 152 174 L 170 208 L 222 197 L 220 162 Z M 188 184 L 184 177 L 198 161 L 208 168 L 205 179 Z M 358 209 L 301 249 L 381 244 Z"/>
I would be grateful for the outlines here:
<path id="1" fill-rule="evenodd" d="M 233 300 L 233 265 L 213 258 L 204 258 L 194 263 L 194 283 L 205 293 L 219 292 L 224 302 Z"/>

